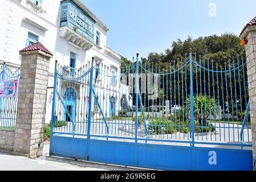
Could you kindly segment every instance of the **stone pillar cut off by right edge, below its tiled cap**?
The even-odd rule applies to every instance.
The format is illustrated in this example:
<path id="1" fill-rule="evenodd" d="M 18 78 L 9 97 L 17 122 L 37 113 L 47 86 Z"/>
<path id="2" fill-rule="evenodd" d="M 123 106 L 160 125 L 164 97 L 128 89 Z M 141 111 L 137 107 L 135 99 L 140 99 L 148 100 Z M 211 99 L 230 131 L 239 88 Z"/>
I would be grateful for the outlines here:
<path id="1" fill-rule="evenodd" d="M 247 26 L 241 34 L 245 44 L 247 75 L 250 98 L 251 135 L 253 144 L 253 166 L 256 169 L 256 26 Z"/>

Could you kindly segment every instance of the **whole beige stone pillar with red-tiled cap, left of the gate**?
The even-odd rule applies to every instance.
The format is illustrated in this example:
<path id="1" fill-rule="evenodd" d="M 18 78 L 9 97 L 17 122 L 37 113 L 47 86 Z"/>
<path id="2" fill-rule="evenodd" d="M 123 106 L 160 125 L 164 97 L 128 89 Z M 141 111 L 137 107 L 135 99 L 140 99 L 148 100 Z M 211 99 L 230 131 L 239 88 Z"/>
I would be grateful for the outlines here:
<path id="1" fill-rule="evenodd" d="M 20 51 L 20 55 L 22 64 L 13 150 L 35 159 L 43 151 L 48 69 L 52 54 L 42 44 L 35 43 Z"/>

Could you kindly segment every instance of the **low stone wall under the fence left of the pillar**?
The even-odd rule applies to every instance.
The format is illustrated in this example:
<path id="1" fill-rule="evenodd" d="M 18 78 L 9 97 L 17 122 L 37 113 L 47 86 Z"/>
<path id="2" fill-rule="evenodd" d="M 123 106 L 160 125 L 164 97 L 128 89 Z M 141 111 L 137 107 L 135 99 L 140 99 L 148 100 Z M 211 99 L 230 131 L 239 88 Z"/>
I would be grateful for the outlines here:
<path id="1" fill-rule="evenodd" d="M 13 150 L 14 145 L 14 130 L 0 129 L 0 148 L 4 150 Z"/>

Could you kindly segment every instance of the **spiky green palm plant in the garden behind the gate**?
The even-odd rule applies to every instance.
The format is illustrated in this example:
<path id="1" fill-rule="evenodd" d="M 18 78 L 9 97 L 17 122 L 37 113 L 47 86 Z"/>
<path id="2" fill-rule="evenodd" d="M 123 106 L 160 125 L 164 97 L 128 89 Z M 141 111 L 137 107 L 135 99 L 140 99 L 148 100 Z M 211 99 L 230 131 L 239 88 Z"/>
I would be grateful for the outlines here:
<path id="1" fill-rule="evenodd" d="M 186 102 L 188 104 L 188 112 L 190 113 L 190 96 L 188 96 Z M 201 126 L 206 126 L 210 115 L 216 116 L 219 114 L 218 105 L 218 100 L 211 96 L 204 96 L 202 94 L 193 96 L 194 118 L 198 120 Z"/>

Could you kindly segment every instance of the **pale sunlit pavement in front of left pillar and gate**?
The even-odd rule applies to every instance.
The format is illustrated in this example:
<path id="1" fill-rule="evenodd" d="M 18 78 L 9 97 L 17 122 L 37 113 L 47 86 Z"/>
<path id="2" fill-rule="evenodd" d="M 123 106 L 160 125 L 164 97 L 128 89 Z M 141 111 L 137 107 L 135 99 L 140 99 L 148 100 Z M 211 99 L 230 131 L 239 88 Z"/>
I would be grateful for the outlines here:
<path id="1" fill-rule="evenodd" d="M 111 166 L 108 164 L 82 162 L 55 158 L 48 155 L 49 145 L 44 146 L 43 156 L 29 159 L 6 152 L 0 152 L 0 171 L 136 171 L 136 168 Z"/>

